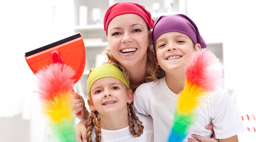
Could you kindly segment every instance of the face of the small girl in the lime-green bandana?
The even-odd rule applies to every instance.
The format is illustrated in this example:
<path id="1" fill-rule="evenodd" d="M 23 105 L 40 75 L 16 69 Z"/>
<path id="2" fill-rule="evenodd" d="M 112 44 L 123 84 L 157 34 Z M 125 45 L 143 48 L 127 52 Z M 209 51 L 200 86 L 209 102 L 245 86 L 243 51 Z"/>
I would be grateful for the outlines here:
<path id="1" fill-rule="evenodd" d="M 105 77 L 96 80 L 91 87 L 88 102 L 91 109 L 96 109 L 100 115 L 121 114 L 127 111 L 127 103 L 132 101 L 132 91 L 121 80 Z"/>

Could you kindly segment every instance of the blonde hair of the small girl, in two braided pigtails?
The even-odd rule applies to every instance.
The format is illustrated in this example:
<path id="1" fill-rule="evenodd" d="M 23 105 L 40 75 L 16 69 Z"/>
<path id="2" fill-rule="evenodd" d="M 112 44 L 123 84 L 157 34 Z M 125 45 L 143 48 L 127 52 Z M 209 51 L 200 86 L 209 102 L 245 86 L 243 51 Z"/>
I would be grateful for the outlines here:
<path id="1" fill-rule="evenodd" d="M 127 88 L 127 91 L 128 91 L 128 88 Z M 91 98 L 90 98 L 90 101 L 92 101 Z M 139 137 L 143 133 L 144 126 L 142 125 L 142 122 L 139 120 L 139 117 L 136 116 L 132 102 L 131 102 L 131 104 L 127 103 L 127 109 L 128 109 L 128 120 L 129 120 L 130 132 L 134 137 Z M 91 111 L 90 115 L 88 116 L 89 126 L 88 126 L 88 133 L 86 135 L 86 137 L 88 139 L 88 142 L 92 141 L 91 134 L 92 134 L 92 128 L 93 127 L 95 129 L 95 134 L 96 134 L 95 140 L 96 140 L 96 142 L 101 141 L 101 128 L 100 128 L 100 120 L 98 119 L 98 114 L 99 114 L 98 111 L 95 110 L 95 111 Z M 135 125 L 134 125 L 133 120 L 135 120 L 138 124 L 138 131 L 137 132 L 135 131 Z"/>

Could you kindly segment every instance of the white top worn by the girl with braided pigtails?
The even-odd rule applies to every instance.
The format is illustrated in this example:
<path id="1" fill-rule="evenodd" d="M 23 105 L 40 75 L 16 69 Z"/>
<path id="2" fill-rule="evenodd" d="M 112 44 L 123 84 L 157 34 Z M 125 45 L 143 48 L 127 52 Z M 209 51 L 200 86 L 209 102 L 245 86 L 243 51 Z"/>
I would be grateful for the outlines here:
<path id="1" fill-rule="evenodd" d="M 151 142 L 154 140 L 153 120 L 151 116 L 136 114 L 144 126 L 143 134 L 139 137 L 133 137 L 130 133 L 129 126 L 119 130 L 104 130 L 101 128 L 102 142 Z M 138 124 L 134 122 L 135 131 L 138 130 Z M 95 141 L 95 130 L 92 128 L 92 141 Z"/>

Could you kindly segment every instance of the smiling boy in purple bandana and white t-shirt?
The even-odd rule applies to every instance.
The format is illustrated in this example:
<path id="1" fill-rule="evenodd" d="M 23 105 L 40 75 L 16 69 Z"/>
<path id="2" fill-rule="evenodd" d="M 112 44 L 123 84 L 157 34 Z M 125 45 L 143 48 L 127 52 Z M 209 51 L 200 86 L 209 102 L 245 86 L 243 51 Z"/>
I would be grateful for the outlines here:
<path id="1" fill-rule="evenodd" d="M 166 141 L 174 120 L 177 94 L 184 87 L 185 67 L 193 53 L 207 45 L 195 23 L 183 14 L 161 16 L 153 28 L 152 40 L 157 64 L 166 76 L 137 87 L 134 107 L 136 112 L 153 118 L 155 141 Z M 219 141 L 238 141 L 237 134 L 245 129 L 232 99 L 220 87 L 212 96 L 207 109 L 199 110 L 185 140 L 192 141 L 188 138 L 193 133 L 210 137 L 212 131 L 205 126 L 212 122 Z"/>

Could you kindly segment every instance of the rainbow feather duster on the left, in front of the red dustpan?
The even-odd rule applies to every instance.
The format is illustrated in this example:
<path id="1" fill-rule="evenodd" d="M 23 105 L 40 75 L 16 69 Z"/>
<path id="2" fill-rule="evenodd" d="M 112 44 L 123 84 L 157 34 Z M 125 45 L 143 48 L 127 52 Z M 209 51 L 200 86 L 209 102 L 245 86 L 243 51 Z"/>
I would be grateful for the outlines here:
<path id="1" fill-rule="evenodd" d="M 75 112 L 72 110 L 75 71 L 66 64 L 47 65 L 36 73 L 42 113 L 48 120 L 49 141 L 75 142 Z"/>

